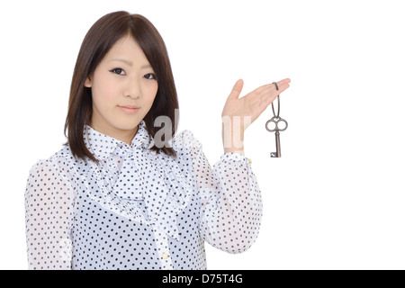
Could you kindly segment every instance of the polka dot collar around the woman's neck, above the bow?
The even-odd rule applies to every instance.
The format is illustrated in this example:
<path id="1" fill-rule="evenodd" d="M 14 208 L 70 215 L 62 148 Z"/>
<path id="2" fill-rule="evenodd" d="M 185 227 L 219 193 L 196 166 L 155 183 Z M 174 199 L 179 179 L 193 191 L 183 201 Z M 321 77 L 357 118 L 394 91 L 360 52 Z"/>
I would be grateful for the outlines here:
<path id="1" fill-rule="evenodd" d="M 152 148 L 154 145 L 154 140 L 148 134 L 144 120 L 139 122 L 138 131 L 130 145 L 94 130 L 87 124 L 83 130 L 83 138 L 85 139 L 85 146 L 99 160 L 110 157 L 112 153 L 124 157 L 132 154 L 136 148 Z"/>

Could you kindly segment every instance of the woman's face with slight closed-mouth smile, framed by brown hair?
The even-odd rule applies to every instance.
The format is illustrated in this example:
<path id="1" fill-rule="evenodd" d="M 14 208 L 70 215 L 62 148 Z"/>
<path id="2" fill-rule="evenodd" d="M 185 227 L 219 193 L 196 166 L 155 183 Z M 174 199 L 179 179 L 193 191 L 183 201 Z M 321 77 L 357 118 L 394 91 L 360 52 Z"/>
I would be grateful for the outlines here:
<path id="1" fill-rule="evenodd" d="M 92 89 L 90 126 L 127 143 L 150 110 L 158 87 L 155 72 L 132 36 L 112 46 L 85 86 Z M 138 109 L 130 109 L 134 107 Z"/>

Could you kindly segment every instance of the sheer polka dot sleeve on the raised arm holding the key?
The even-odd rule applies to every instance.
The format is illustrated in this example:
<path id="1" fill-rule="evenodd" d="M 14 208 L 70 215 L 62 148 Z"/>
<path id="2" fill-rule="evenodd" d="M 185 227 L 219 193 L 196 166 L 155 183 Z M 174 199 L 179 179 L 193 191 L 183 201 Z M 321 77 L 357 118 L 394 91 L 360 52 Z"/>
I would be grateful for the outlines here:
<path id="1" fill-rule="evenodd" d="M 202 238 L 220 250 L 244 252 L 257 239 L 263 206 L 251 163 L 238 153 L 224 153 L 211 169 L 201 143 L 193 134 L 189 137 L 194 143 L 190 153 L 202 205 Z"/>

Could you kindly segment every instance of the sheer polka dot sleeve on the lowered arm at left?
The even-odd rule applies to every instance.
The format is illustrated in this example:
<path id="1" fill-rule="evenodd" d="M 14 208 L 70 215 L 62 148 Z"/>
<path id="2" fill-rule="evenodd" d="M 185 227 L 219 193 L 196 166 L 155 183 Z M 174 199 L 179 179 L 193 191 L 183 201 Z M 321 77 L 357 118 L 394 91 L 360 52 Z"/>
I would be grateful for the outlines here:
<path id="1" fill-rule="evenodd" d="M 31 167 L 25 189 L 29 269 L 71 269 L 73 189 L 56 159 Z"/>

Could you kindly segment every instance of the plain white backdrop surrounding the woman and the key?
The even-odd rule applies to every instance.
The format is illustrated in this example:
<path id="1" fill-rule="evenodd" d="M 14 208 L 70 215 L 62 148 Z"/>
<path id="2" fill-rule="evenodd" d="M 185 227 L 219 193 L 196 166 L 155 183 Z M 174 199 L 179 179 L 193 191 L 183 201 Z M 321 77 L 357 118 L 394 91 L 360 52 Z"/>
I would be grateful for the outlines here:
<path id="1" fill-rule="evenodd" d="M 220 113 L 291 78 L 281 94 L 283 157 L 271 158 L 271 105 L 246 131 L 264 200 L 257 242 L 209 269 L 404 269 L 402 1 L 2 1 L 0 268 L 26 269 L 24 190 L 61 148 L 76 56 L 104 14 L 146 16 L 166 42 L 180 104 L 211 165 Z M 275 103 L 276 104 L 276 103 Z M 276 105 L 275 105 L 276 107 Z"/>

